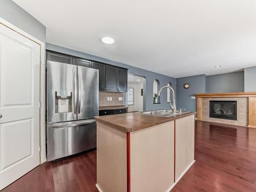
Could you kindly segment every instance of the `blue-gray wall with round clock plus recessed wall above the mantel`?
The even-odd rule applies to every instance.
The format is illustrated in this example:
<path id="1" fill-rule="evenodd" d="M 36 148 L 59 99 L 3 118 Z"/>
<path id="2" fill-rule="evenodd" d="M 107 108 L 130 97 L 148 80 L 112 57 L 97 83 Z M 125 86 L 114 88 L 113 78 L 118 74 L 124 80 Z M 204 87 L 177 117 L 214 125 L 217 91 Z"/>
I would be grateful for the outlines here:
<path id="1" fill-rule="evenodd" d="M 243 71 L 210 76 L 196 75 L 177 78 L 177 108 L 184 108 L 187 111 L 197 111 L 197 100 L 191 99 L 191 96 L 194 96 L 195 93 L 243 92 L 245 78 L 246 76 Z M 190 84 L 189 89 L 183 87 L 185 83 Z"/>

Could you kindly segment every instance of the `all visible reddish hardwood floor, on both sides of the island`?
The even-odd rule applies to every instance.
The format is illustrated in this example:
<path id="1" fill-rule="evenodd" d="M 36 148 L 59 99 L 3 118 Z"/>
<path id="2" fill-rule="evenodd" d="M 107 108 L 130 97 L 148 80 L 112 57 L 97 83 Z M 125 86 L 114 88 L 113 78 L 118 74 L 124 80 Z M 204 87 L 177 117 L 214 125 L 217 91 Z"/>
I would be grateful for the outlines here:
<path id="1" fill-rule="evenodd" d="M 172 191 L 256 191 L 256 129 L 196 122 L 196 162 Z M 98 191 L 96 151 L 44 163 L 10 191 Z"/>

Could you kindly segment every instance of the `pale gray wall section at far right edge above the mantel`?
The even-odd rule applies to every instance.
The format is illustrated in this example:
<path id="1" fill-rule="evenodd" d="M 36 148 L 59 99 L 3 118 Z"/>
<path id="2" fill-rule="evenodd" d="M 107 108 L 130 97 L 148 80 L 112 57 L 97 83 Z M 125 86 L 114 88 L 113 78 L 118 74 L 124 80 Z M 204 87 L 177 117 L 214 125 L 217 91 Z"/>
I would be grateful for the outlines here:
<path id="1" fill-rule="evenodd" d="M 244 91 L 256 92 L 256 66 L 244 69 Z"/>

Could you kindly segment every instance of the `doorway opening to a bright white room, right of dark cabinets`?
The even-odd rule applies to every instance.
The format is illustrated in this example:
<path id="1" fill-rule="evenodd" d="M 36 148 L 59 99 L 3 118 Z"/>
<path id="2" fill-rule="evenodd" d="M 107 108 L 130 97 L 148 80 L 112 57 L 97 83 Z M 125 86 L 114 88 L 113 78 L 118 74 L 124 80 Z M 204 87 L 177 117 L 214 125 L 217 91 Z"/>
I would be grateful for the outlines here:
<path id="1" fill-rule="evenodd" d="M 128 112 L 143 111 L 145 82 L 145 77 L 128 74 L 128 90 L 126 94 L 126 103 L 129 105 Z"/>

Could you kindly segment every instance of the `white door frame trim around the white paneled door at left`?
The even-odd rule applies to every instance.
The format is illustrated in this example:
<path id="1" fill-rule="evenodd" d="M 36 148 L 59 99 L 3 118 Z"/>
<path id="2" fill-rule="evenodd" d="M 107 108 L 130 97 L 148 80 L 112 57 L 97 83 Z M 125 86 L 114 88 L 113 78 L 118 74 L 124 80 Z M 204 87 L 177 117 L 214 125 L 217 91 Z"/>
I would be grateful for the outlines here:
<path id="1" fill-rule="evenodd" d="M 40 111 L 39 111 L 39 143 L 38 150 L 40 149 L 40 157 L 39 157 L 39 164 L 42 164 L 46 161 L 46 129 L 45 129 L 45 66 L 46 66 L 46 49 L 45 49 L 45 42 L 38 40 L 37 38 L 33 37 L 32 35 L 28 34 L 27 32 L 19 29 L 18 27 L 12 25 L 11 23 L 7 22 L 7 20 L 0 17 L 0 24 L 8 27 L 9 29 L 23 35 L 24 37 L 36 42 L 40 46 L 40 58 L 41 58 L 41 65 L 40 65 Z"/>

